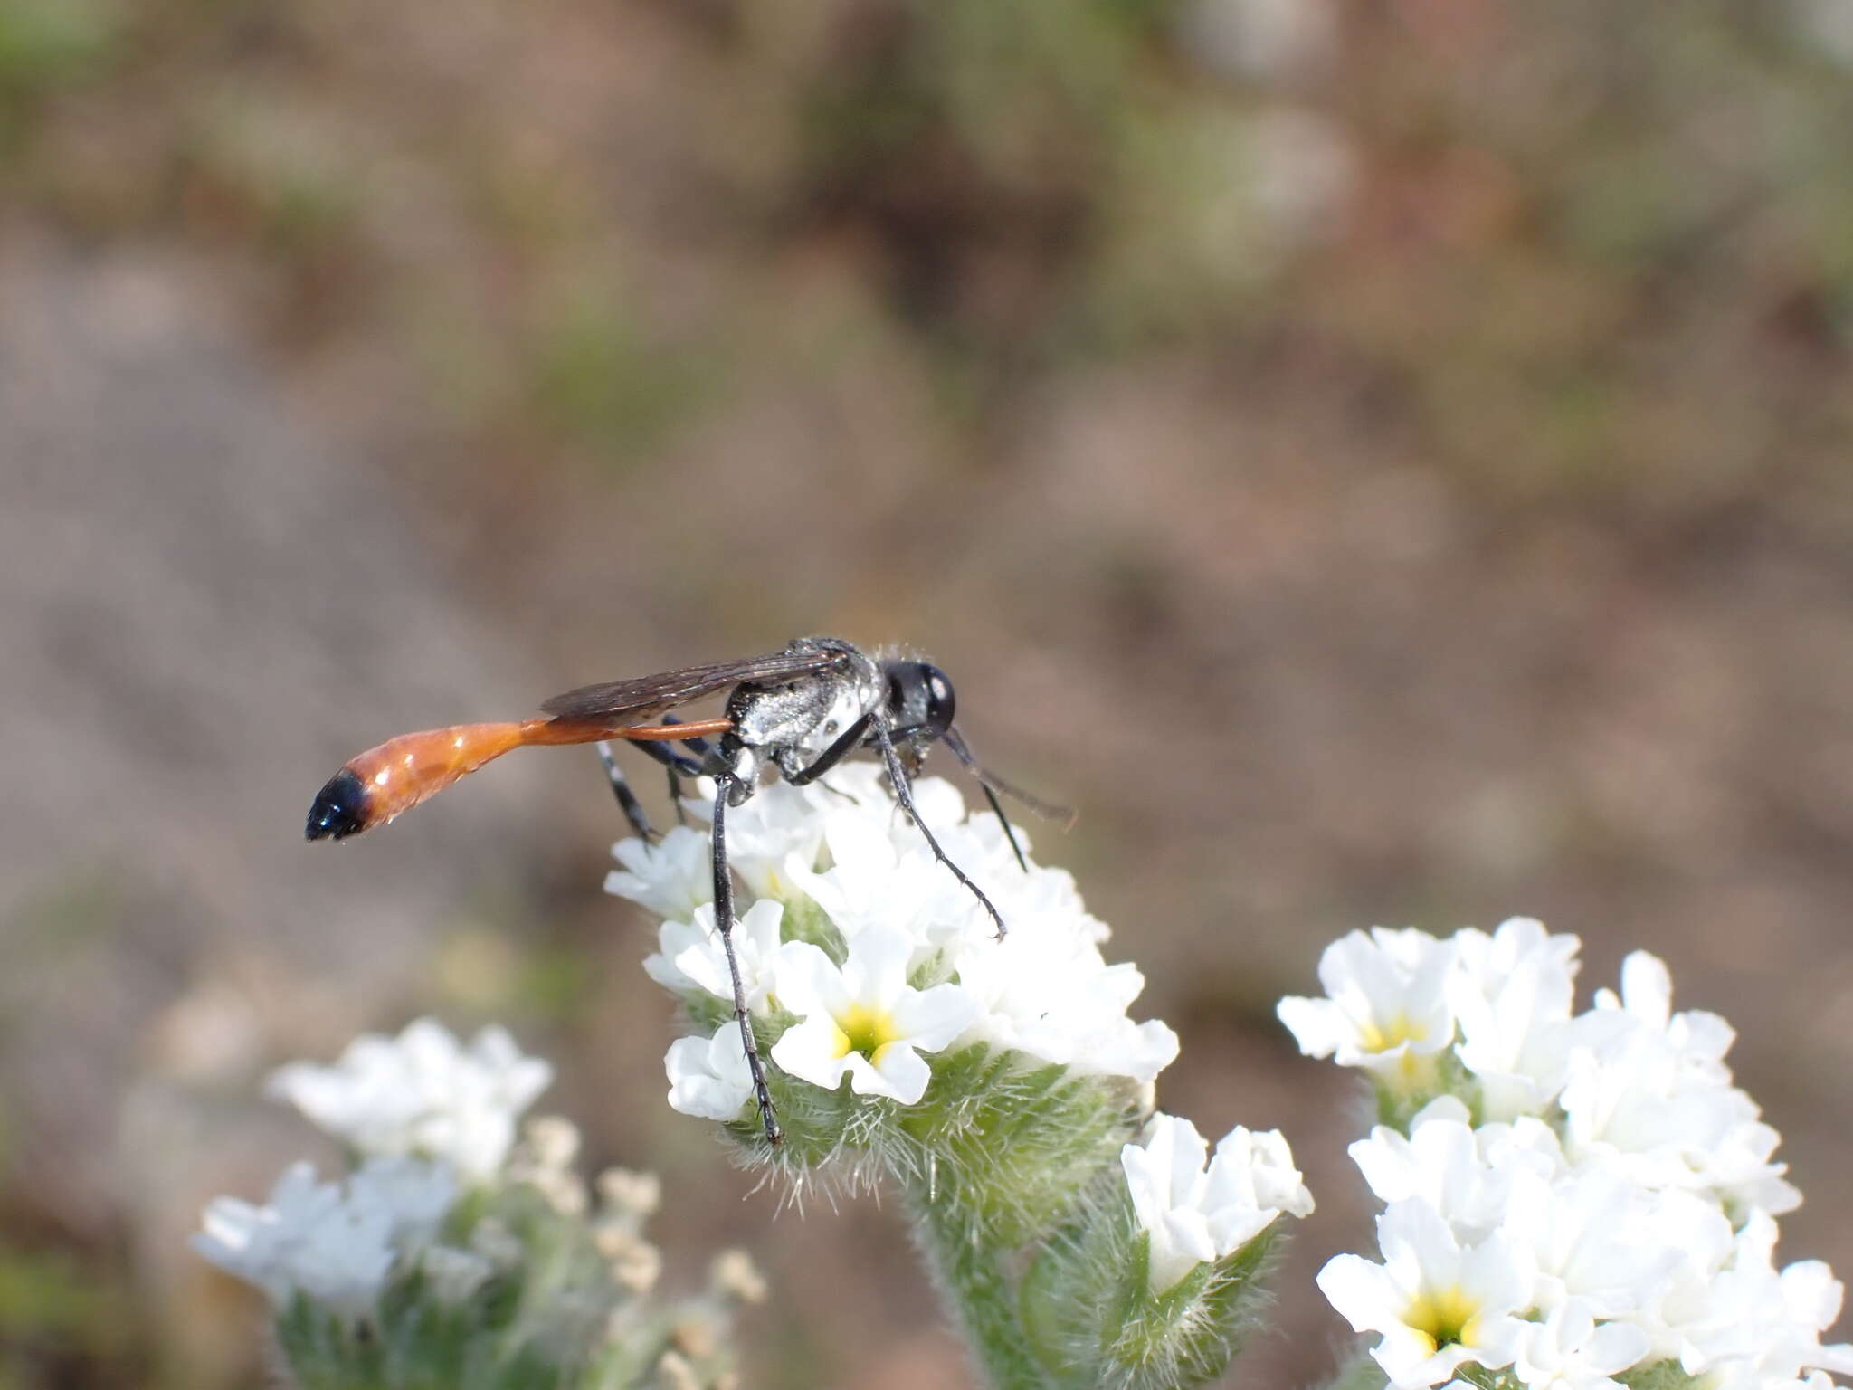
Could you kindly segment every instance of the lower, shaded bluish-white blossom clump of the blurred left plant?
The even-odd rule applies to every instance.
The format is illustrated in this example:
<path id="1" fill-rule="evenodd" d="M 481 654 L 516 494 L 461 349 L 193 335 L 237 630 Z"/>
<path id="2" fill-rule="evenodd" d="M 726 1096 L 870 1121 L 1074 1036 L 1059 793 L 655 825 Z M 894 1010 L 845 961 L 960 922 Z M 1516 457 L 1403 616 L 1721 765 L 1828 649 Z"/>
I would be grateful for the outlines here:
<path id="1" fill-rule="evenodd" d="M 372 1310 L 400 1251 L 430 1238 L 456 1190 L 443 1164 L 374 1158 L 341 1184 L 317 1182 L 315 1166 L 296 1162 L 263 1207 L 213 1199 L 193 1247 L 261 1288 L 278 1308 L 300 1290 L 359 1318 Z"/>

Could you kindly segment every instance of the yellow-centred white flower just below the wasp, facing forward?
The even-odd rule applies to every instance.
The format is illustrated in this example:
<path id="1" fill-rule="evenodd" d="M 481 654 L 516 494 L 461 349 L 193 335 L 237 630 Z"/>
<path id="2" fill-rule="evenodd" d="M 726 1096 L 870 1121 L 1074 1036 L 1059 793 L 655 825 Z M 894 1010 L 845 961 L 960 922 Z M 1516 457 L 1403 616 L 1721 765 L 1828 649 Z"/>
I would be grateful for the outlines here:
<path id="1" fill-rule="evenodd" d="M 914 1105 L 932 1069 L 921 1053 L 938 1053 L 977 1014 L 956 984 L 908 984 L 914 943 L 904 932 L 871 927 L 849 943 L 841 967 L 810 941 L 789 941 L 775 964 L 778 1003 L 800 1023 L 773 1047 L 793 1077 L 836 1090 L 843 1077 L 858 1095 L 889 1095 Z"/>

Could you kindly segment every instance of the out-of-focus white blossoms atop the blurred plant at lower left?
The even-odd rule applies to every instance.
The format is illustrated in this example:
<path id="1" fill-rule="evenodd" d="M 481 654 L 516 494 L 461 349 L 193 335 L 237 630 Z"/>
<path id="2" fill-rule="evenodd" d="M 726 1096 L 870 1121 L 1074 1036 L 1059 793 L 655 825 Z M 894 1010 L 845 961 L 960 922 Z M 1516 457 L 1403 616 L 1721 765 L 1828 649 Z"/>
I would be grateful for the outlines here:
<path id="1" fill-rule="evenodd" d="M 293 1062 L 269 1082 L 363 1158 L 345 1181 L 319 1182 L 296 1162 L 263 1207 L 219 1197 L 193 1238 L 208 1260 L 261 1288 L 278 1308 L 296 1292 L 347 1318 L 371 1312 L 410 1264 L 467 1297 L 493 1273 L 485 1253 L 435 1244 L 465 1182 L 487 1182 L 513 1144 L 517 1116 L 552 1079 L 502 1029 L 463 1047 L 432 1019 L 398 1038 L 365 1034 L 332 1068 Z"/>

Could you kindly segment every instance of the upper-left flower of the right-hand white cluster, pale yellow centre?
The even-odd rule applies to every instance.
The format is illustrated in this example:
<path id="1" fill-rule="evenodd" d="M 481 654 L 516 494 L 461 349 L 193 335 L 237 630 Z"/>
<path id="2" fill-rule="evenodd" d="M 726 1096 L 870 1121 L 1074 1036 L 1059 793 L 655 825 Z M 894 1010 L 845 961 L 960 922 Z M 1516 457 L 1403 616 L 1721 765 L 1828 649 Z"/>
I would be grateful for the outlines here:
<path id="1" fill-rule="evenodd" d="M 1282 999 L 1277 1012 L 1306 1056 L 1336 1055 L 1340 1066 L 1408 1088 L 1455 1042 L 1453 969 L 1453 941 L 1371 927 L 1369 936 L 1351 932 L 1325 947 L 1325 999 Z"/>

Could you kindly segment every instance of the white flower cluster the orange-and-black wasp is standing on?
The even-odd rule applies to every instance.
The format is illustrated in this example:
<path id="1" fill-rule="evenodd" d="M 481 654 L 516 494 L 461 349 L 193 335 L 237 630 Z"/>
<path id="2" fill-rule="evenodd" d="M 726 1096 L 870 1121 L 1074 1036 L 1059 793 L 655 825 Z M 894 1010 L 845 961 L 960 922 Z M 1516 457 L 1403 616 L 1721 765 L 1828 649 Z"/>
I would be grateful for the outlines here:
<path id="1" fill-rule="evenodd" d="M 700 788 L 686 804 L 706 821 L 712 788 Z M 728 815 L 728 858 L 749 890 L 734 929 L 747 1005 L 795 1017 L 771 1060 L 815 1086 L 836 1090 L 847 1077 L 858 1095 L 902 1105 L 926 1092 L 923 1055 L 967 1043 L 1151 1082 L 1177 1056 L 1177 1034 L 1127 1017 L 1143 977 L 1106 964 L 1108 930 L 1082 908 L 1073 878 L 1034 864 L 1025 873 L 997 817 L 967 817 L 945 780 L 915 782 L 914 801 L 997 904 L 1002 941 L 873 764 L 847 764 L 806 788 L 775 782 Z M 691 1003 L 706 999 L 712 1017 L 732 986 L 713 930 L 708 830 L 678 827 L 656 845 L 626 840 L 613 854 L 624 867 L 606 888 L 665 917 L 645 969 Z M 802 940 L 810 934 L 830 949 Z M 669 1103 L 684 1114 L 732 1119 L 752 1095 L 732 1021 L 678 1040 L 665 1068 Z"/>

